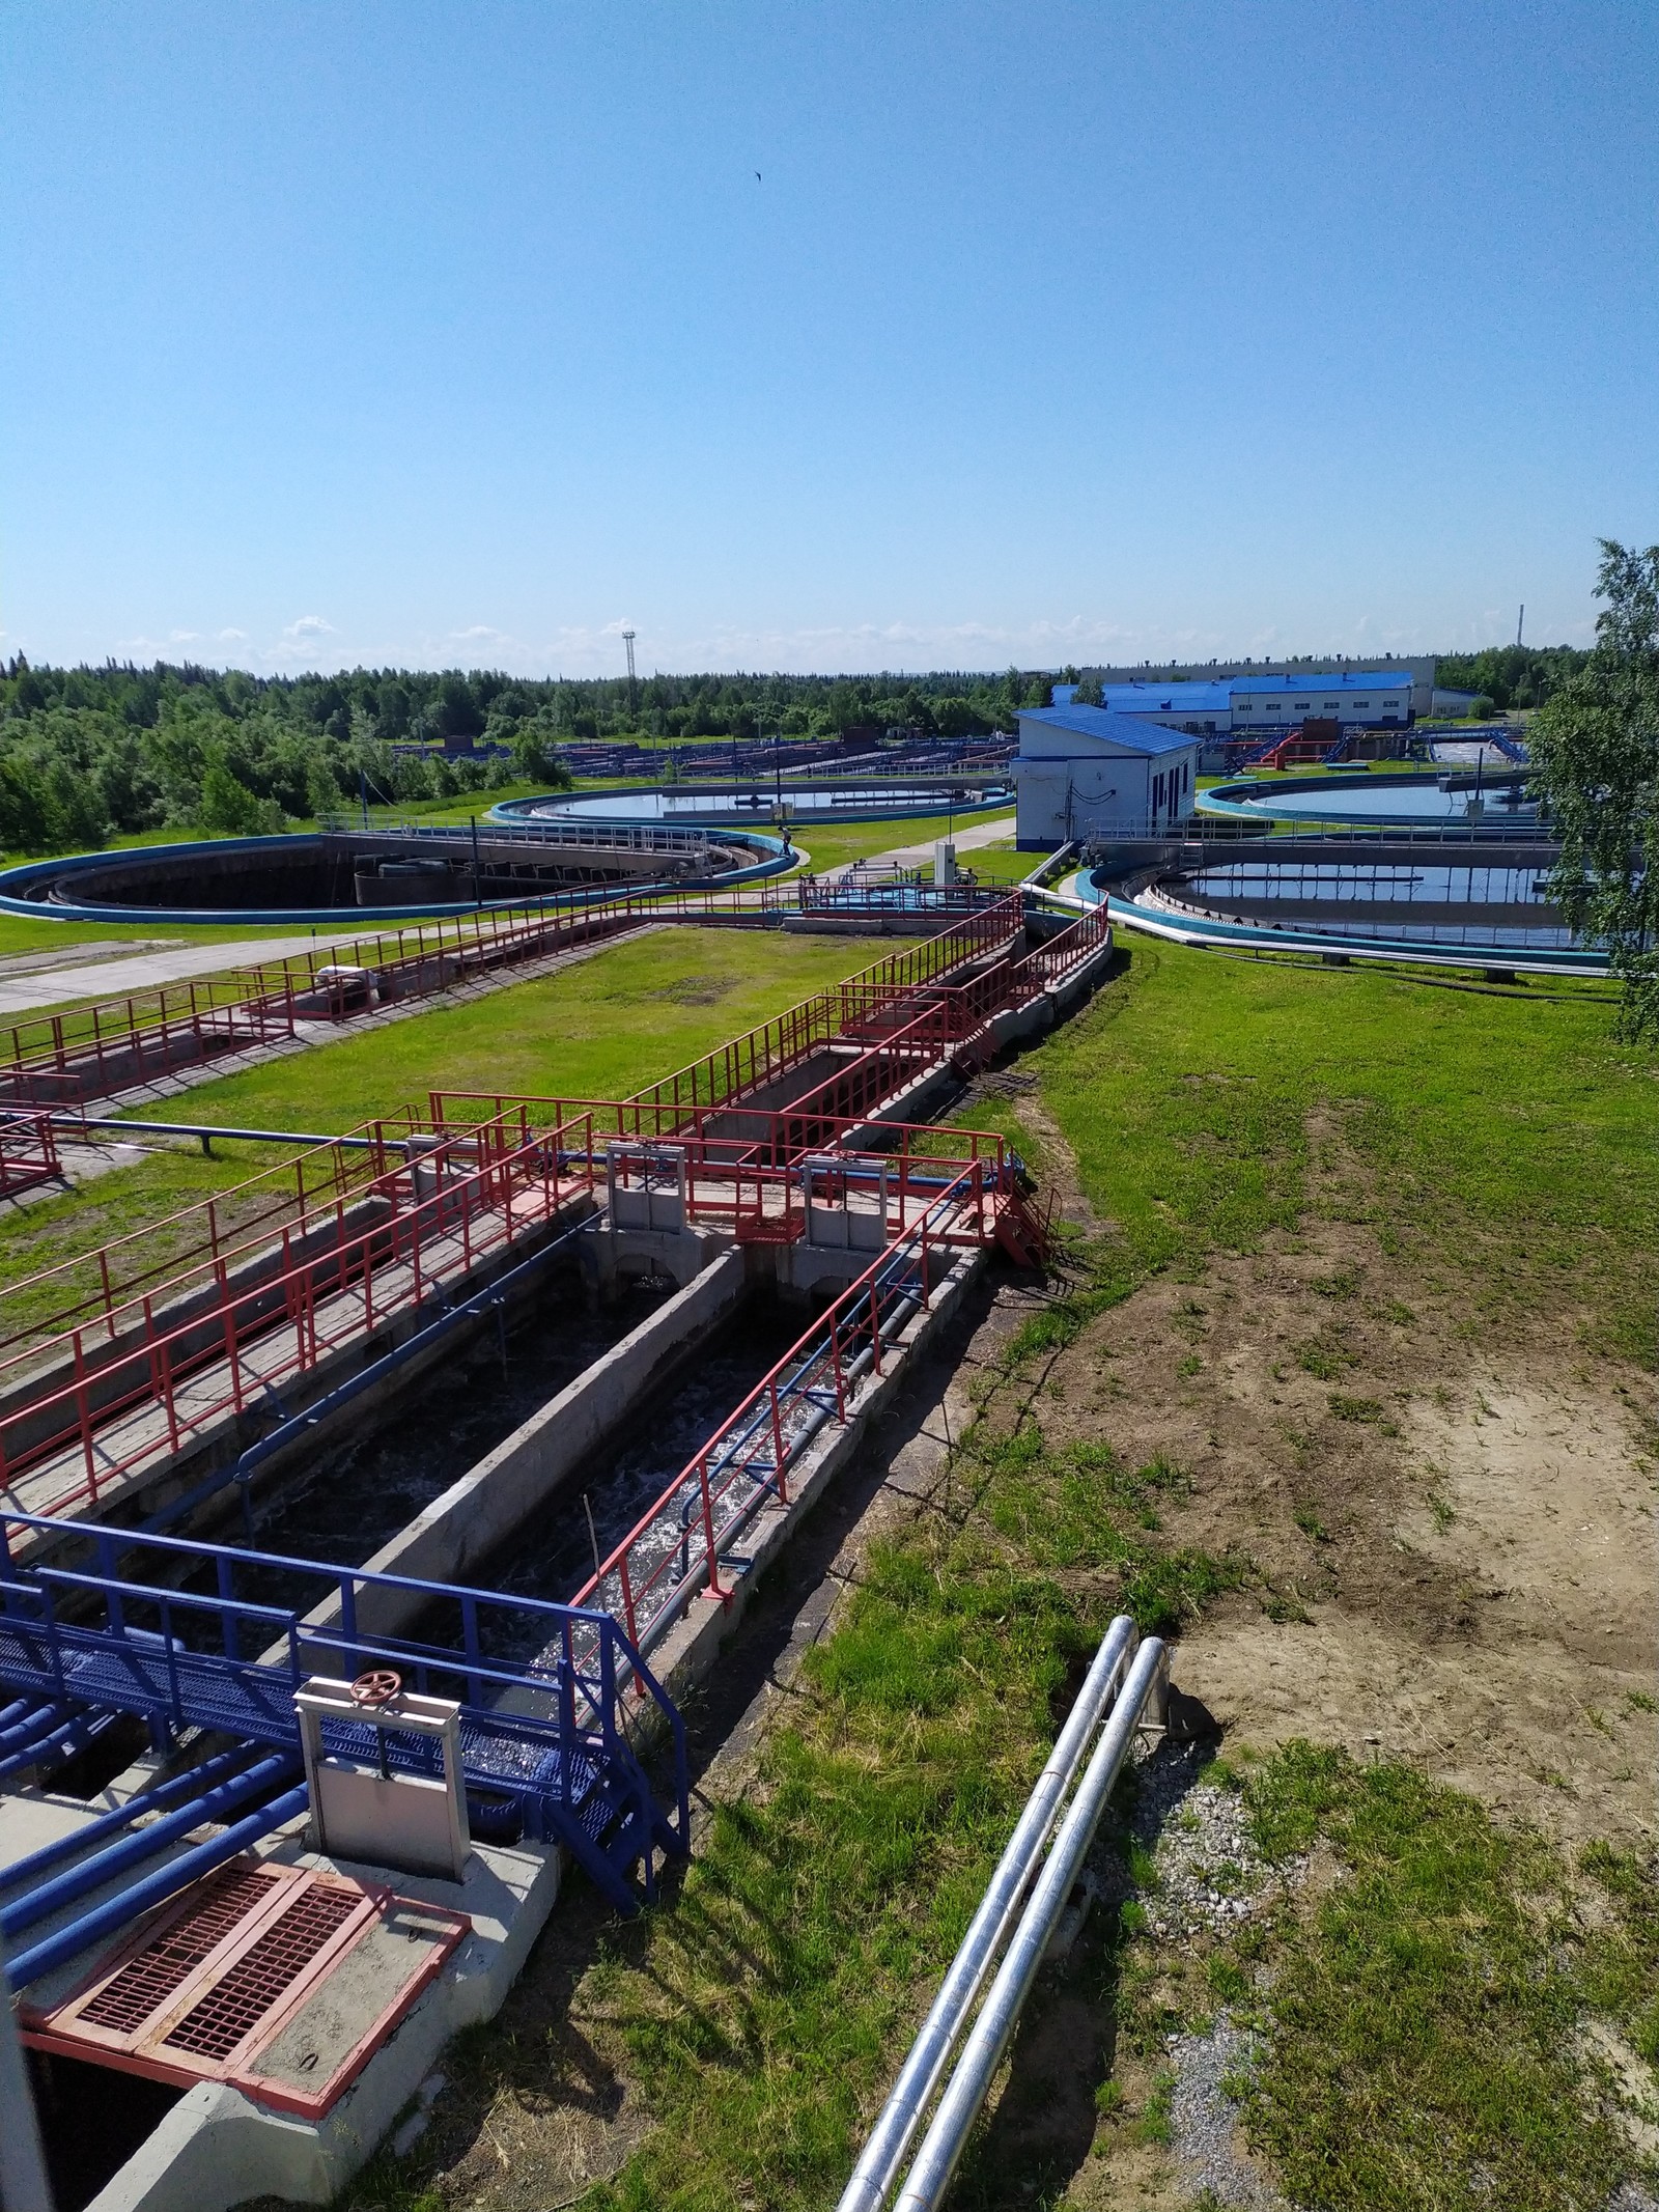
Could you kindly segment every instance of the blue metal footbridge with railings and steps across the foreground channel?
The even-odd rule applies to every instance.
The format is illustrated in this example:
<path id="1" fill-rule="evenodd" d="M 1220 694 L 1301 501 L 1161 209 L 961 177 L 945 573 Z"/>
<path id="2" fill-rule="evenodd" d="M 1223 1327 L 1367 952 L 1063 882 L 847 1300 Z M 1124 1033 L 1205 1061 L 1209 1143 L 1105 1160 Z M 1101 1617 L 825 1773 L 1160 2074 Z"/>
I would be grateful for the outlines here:
<path id="1" fill-rule="evenodd" d="M 49 1537 L 51 1557 L 20 1564 L 13 1535 Z M 299 1584 L 296 1595 L 310 1601 L 243 1595 L 252 1577 L 283 1595 Z M 414 1615 L 418 1632 L 363 1626 L 376 1593 L 387 1593 L 380 1604 Z M 653 1847 L 684 1856 L 684 1721 L 611 1615 L 188 1537 L 0 1513 L 7 1690 L 290 1750 L 299 1745 L 294 1690 L 312 1674 L 369 1668 L 394 1668 L 411 1688 L 456 1699 L 469 1794 L 511 1801 L 531 1836 L 566 1843 L 624 1909 L 635 1902 L 635 1863 L 644 1860 L 650 1893 Z M 668 1812 L 657 1805 L 624 1725 L 628 1686 L 635 1705 L 657 1708 L 670 1741 Z M 325 1741 L 356 1756 L 367 1734 L 330 1723 Z M 394 1767 L 427 1772 L 434 1759 L 427 1739 L 392 1739 Z"/>

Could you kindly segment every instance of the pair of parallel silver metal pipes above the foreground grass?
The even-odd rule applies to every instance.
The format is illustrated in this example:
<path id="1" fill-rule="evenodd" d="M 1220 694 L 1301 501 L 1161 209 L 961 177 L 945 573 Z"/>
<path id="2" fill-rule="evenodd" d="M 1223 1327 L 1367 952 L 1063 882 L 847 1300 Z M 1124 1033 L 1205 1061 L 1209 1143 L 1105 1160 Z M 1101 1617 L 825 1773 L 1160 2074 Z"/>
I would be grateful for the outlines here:
<path id="1" fill-rule="evenodd" d="M 1066 1728 L 1037 1776 L 969 1933 L 841 2194 L 838 2212 L 883 2212 L 889 2203 L 916 2128 L 947 2073 L 951 2051 L 962 2037 L 984 1978 L 1004 1947 L 1020 1900 L 1031 1889 L 1031 1900 L 1006 1942 L 1002 1966 L 945 2086 L 896 2212 L 936 2212 L 945 2201 L 962 2146 L 1013 2037 L 1031 1982 L 1148 1703 L 1157 1708 L 1161 1723 L 1168 1657 L 1157 1637 L 1148 1637 L 1139 1652 L 1135 1644 L 1135 1624 L 1119 1615 L 1102 1639 Z M 1084 1781 L 1066 1809 L 1046 1863 L 1042 1863 L 1064 1794 L 1102 1717 L 1106 1725 Z M 1042 1871 L 1037 1874 L 1040 1863 Z M 1031 1887 L 1033 1876 L 1035 1887 Z"/>

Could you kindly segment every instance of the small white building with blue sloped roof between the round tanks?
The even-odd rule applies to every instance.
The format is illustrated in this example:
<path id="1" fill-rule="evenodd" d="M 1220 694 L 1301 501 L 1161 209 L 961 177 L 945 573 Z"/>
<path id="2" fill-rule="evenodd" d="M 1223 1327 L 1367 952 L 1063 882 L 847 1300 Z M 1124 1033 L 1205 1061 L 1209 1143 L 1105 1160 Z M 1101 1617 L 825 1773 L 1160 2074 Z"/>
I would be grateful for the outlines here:
<path id="1" fill-rule="evenodd" d="M 1053 852 L 1068 838 L 1155 836 L 1188 816 L 1199 739 L 1066 697 L 1020 714 L 1013 765 L 1020 849 Z"/>

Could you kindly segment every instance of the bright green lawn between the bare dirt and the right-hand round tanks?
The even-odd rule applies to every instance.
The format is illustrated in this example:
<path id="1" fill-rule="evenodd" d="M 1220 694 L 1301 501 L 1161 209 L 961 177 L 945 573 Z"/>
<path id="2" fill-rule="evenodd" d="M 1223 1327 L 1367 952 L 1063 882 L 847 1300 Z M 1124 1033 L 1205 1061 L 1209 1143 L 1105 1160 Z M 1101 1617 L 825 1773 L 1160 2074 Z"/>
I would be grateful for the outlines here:
<path id="1" fill-rule="evenodd" d="M 1126 942 L 1126 975 L 1031 1060 L 1115 1223 L 1115 1276 L 1294 1228 L 1323 1141 L 1354 1161 L 1347 1203 L 1385 1245 L 1469 1276 L 1471 1325 L 1566 1301 L 1655 1365 L 1659 1091 L 1606 991 Z"/>

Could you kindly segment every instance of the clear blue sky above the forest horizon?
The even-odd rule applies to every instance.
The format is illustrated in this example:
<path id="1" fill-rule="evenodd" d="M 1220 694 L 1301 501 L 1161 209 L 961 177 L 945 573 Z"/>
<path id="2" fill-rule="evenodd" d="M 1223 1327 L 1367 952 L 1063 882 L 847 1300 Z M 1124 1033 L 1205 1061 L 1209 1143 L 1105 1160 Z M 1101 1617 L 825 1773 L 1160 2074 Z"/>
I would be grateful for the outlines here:
<path id="1" fill-rule="evenodd" d="M 1582 641 L 1655 86 L 1632 0 L 9 0 L 0 650 Z"/>

